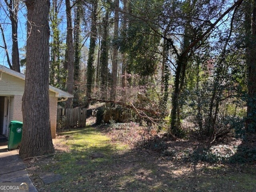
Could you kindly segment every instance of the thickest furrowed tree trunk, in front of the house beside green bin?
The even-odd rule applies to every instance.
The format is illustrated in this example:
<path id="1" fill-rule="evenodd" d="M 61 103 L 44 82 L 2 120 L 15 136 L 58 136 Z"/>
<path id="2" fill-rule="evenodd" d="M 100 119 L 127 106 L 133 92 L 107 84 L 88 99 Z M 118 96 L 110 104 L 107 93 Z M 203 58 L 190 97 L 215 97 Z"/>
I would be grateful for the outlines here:
<path id="1" fill-rule="evenodd" d="M 28 38 L 20 157 L 53 153 L 49 110 L 50 0 L 26 0 Z"/>

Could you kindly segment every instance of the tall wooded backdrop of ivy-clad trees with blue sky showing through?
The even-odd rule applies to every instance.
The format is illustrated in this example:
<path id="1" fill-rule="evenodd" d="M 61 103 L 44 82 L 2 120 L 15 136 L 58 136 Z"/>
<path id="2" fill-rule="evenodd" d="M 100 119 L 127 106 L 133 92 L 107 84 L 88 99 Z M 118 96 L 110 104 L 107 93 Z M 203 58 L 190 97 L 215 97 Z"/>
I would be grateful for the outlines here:
<path id="1" fill-rule="evenodd" d="M 25 70 L 33 22 L 23 1 L 0 10 L 2 61 Z M 51 0 L 49 18 L 49 83 L 74 95 L 66 108 L 121 105 L 174 139 L 255 133 L 256 1 Z"/>

